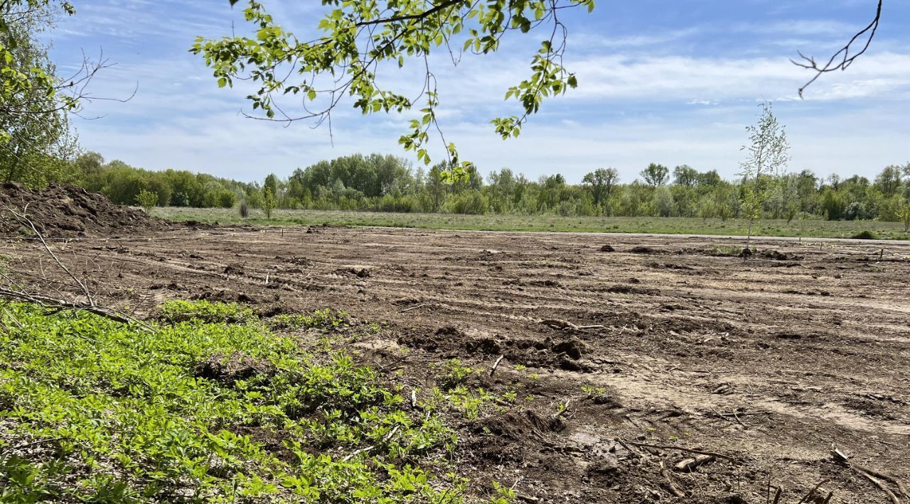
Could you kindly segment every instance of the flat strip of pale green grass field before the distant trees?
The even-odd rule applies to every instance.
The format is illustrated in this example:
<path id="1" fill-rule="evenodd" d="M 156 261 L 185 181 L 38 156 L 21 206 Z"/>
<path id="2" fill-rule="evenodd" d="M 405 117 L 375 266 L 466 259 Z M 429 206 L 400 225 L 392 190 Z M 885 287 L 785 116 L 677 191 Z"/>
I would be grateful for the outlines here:
<path id="1" fill-rule="evenodd" d="M 748 222 L 730 219 L 703 221 L 684 217 L 561 217 L 558 215 L 458 215 L 450 213 L 329 212 L 276 210 L 272 219 L 258 210 L 242 219 L 237 209 L 156 208 L 152 214 L 171 221 L 218 222 L 221 224 L 406 227 L 475 231 L 550 232 L 655 232 L 670 234 L 745 235 Z M 754 225 L 756 236 L 804 236 L 806 238 L 851 238 L 859 232 L 876 238 L 908 240 L 910 233 L 899 222 L 763 220 Z"/>

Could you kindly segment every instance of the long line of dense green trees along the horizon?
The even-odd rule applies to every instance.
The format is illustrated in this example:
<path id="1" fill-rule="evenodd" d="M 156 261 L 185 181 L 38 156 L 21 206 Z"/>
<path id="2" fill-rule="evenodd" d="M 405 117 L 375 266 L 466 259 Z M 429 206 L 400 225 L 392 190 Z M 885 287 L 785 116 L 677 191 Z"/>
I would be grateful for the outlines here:
<path id="1" fill-rule="evenodd" d="M 640 178 L 623 183 L 604 168 L 587 173 L 581 183 L 567 183 L 560 173 L 529 180 L 509 168 L 476 170 L 466 180 L 444 183 L 437 164 L 425 171 L 392 155 L 349 155 L 298 169 L 287 178 L 269 174 L 261 183 L 240 183 L 184 170 L 155 172 L 121 161 L 106 163 L 99 153 L 82 153 L 72 163 L 54 164 L 29 185 L 69 182 L 104 193 L 115 203 L 136 204 L 140 191 L 157 195 L 159 206 L 233 207 L 246 202 L 261 208 L 351 210 L 368 212 L 450 212 L 663 216 L 728 219 L 742 215 L 743 185 L 716 171 L 687 165 L 669 168 L 652 163 Z M 27 173 L 37 173 L 26 171 Z M 0 163 L 4 179 L 13 173 Z M 910 163 L 886 166 L 875 180 L 854 175 L 822 179 L 809 171 L 764 181 L 773 196 L 763 203 L 763 217 L 904 221 L 910 212 Z"/>

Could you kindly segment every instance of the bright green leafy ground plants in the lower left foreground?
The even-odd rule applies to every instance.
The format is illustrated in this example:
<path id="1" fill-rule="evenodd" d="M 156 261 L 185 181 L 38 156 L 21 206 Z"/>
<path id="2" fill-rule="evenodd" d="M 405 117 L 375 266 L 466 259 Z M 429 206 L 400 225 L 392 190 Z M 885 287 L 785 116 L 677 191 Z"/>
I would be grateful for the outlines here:
<path id="1" fill-rule="evenodd" d="M 375 371 L 237 305 L 164 312 L 153 332 L 5 305 L 0 501 L 460 502 L 453 430 Z M 345 322 L 284 323 L 330 338 Z"/>

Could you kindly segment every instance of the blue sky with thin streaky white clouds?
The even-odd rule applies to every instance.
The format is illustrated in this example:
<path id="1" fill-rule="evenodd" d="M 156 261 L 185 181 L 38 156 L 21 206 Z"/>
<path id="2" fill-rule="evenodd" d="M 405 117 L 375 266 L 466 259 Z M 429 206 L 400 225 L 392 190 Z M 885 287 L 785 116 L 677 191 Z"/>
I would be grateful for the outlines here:
<path id="1" fill-rule="evenodd" d="M 227 0 L 76 0 L 77 15 L 51 34 L 63 72 L 82 50 L 116 66 L 91 92 L 127 103 L 96 101 L 76 119 L 84 148 L 149 169 L 179 168 L 243 181 L 349 153 L 404 155 L 397 139 L 410 115 L 363 116 L 344 106 L 329 129 L 246 119 L 244 89 L 219 89 L 201 58 L 187 52 L 197 35 L 246 29 Z M 326 8 L 317 0 L 265 0 L 276 21 L 311 33 Z M 631 182 L 648 163 L 689 164 L 733 177 L 743 160 L 744 128 L 762 100 L 773 102 L 792 145 L 791 171 L 860 173 L 910 160 L 910 2 L 885 0 L 869 52 L 845 73 L 823 76 L 805 94 L 810 74 L 789 63 L 798 50 L 830 56 L 875 12 L 875 0 L 600 0 L 590 15 L 566 13 L 566 65 L 579 87 L 544 104 L 521 137 L 503 142 L 489 124 L 519 112 L 504 102 L 543 31 L 512 34 L 500 54 L 466 54 L 457 67 L 434 61 L 440 122 L 447 139 L 481 173 L 508 166 L 537 178 L 615 167 Z M 381 72 L 382 84 L 416 89 L 419 62 Z M 349 104 L 348 104 L 349 105 Z M 440 158 L 439 151 L 431 151 Z M 416 163 L 415 163 L 416 164 Z"/>

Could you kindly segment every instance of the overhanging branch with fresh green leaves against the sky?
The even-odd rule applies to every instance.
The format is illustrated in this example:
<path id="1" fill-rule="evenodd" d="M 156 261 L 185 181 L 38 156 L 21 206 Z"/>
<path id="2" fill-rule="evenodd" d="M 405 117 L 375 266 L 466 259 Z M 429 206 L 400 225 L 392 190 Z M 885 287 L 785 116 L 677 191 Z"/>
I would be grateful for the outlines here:
<path id="1" fill-rule="evenodd" d="M 402 113 L 422 103 L 420 118 L 410 121 L 409 132 L 400 136 L 399 143 L 430 164 L 427 144 L 435 130 L 452 166 L 448 176 L 460 177 L 470 163 L 459 162 L 454 143 L 446 143 L 442 134 L 437 114 L 440 96 L 430 55 L 443 50 L 452 64 L 458 64 L 465 52 L 496 52 L 506 34 L 546 27 L 540 49 L 531 58 L 531 76 L 505 94 L 506 99 L 521 103 L 522 113 L 491 121 L 502 138 L 518 136 L 545 98 L 564 94 L 578 84 L 562 64 L 568 31 L 560 13 L 571 7 L 591 12 L 594 0 L 322 0 L 322 5 L 334 8 L 319 20 L 322 36 L 316 39 L 299 40 L 276 24 L 264 5 L 250 0 L 244 14 L 257 30 L 255 37 L 199 37 L 190 51 L 205 58 L 219 86 L 238 80 L 256 83 L 258 90 L 248 99 L 257 115 L 248 116 L 258 119 L 328 121 L 330 128 L 332 110 L 346 95 L 363 114 Z M 380 68 L 401 68 L 410 60 L 419 61 L 424 74 L 416 96 L 379 86 Z M 285 95 L 297 96 L 304 113 L 288 114 L 278 104 Z"/>

